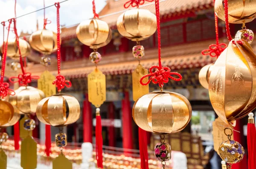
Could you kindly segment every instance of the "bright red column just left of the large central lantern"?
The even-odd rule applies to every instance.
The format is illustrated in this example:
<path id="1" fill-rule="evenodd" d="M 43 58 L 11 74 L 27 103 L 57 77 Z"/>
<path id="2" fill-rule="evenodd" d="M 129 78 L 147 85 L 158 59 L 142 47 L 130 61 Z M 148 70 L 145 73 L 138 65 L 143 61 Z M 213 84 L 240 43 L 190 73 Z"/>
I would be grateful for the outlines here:
<path id="1" fill-rule="evenodd" d="M 124 99 L 122 100 L 122 142 L 124 149 L 133 149 L 131 120 L 132 114 L 129 100 L 129 92 L 124 92 Z"/>

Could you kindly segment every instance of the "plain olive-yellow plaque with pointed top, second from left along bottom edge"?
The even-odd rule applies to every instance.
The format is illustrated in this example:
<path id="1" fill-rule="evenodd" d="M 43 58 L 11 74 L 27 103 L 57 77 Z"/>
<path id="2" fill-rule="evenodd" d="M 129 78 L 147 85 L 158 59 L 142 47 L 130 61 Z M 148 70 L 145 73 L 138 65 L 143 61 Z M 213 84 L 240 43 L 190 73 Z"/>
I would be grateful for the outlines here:
<path id="1" fill-rule="evenodd" d="M 20 166 L 23 169 L 36 169 L 37 166 L 37 143 L 30 135 L 21 142 Z"/>

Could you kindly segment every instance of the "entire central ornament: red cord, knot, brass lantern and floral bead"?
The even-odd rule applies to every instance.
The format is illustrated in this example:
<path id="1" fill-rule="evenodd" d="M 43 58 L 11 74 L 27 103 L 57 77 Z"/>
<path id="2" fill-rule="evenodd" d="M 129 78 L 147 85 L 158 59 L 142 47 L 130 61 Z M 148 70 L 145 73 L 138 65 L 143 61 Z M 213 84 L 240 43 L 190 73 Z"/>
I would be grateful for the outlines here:
<path id="1" fill-rule="evenodd" d="M 132 114 L 135 123 L 148 132 L 154 132 L 160 135 L 160 143 L 154 147 L 155 158 L 162 162 L 165 168 L 166 160 L 171 159 L 171 149 L 168 143 L 165 143 L 164 135 L 179 132 L 186 127 L 192 115 L 192 109 L 186 97 L 174 93 L 164 92 L 163 85 L 168 83 L 169 78 L 175 81 L 182 79 L 181 75 L 171 72 L 168 67 L 163 67 L 161 63 L 160 48 L 160 11 L 159 0 L 155 0 L 157 16 L 157 40 L 158 40 L 158 60 L 159 66 L 151 66 L 149 74 L 140 79 L 142 85 L 148 85 L 151 81 L 158 83 L 159 92 L 152 92 L 140 97 L 133 106 Z M 153 72 L 154 70 L 154 72 Z M 177 76 L 173 77 L 172 75 Z M 143 80 L 150 77 L 144 83 Z"/>

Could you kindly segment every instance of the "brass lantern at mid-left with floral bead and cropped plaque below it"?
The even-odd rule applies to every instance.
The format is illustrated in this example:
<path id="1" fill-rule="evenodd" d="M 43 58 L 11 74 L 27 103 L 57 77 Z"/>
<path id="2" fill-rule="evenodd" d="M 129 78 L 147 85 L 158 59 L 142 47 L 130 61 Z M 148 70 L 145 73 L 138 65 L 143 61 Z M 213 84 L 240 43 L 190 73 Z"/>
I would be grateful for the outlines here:
<path id="1" fill-rule="evenodd" d="M 80 104 L 69 95 L 53 95 L 38 103 L 38 120 L 52 126 L 66 126 L 75 123 L 80 117 Z"/>

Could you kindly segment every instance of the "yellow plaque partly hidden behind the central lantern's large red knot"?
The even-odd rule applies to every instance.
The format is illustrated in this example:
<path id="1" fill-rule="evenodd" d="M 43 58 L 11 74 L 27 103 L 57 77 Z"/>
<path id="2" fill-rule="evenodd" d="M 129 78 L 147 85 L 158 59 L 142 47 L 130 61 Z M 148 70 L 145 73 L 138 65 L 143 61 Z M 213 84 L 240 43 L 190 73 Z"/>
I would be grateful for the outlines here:
<path id="1" fill-rule="evenodd" d="M 141 64 L 137 66 L 137 68 L 132 72 L 132 94 L 133 100 L 138 100 L 139 97 L 148 94 L 149 86 L 143 86 L 140 84 L 140 77 L 143 75 L 148 74 L 148 70 L 145 69 Z M 148 81 L 148 77 L 143 79 L 143 83 Z"/>

